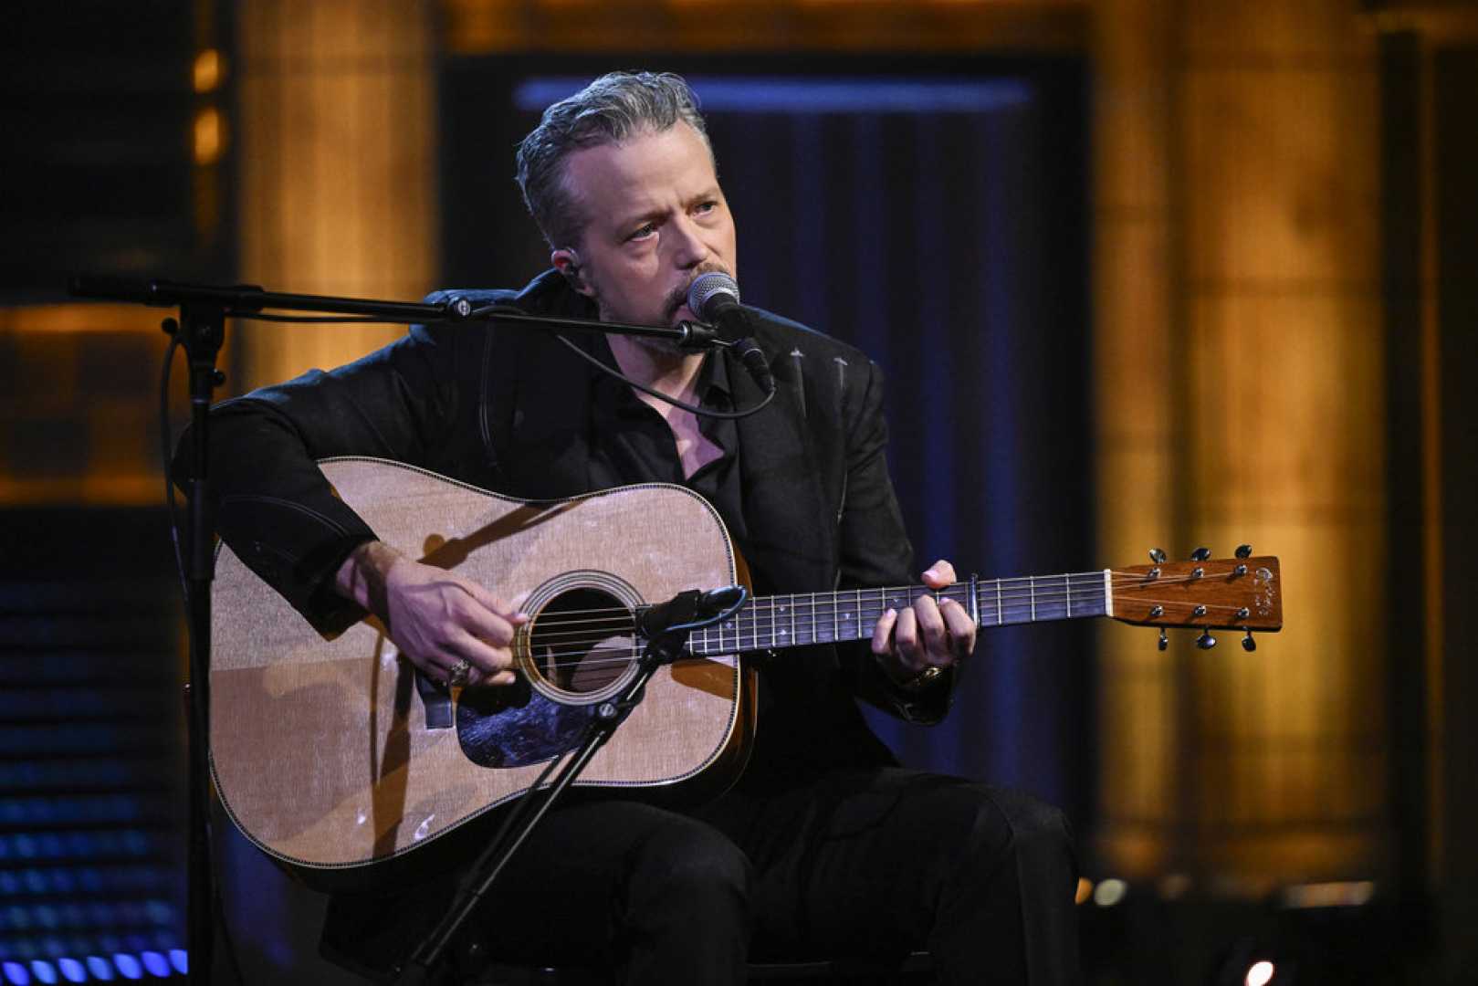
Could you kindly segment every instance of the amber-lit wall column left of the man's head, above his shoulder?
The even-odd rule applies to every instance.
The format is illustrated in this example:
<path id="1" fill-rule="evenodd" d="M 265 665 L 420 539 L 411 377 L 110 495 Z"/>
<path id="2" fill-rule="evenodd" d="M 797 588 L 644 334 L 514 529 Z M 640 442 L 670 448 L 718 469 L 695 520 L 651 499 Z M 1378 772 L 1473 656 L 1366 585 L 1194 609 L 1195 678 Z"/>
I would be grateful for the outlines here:
<path id="1" fill-rule="evenodd" d="M 242 279 L 396 300 L 437 287 L 432 21 L 395 0 L 238 6 Z M 235 389 L 402 331 L 245 327 Z"/>

